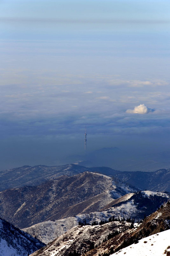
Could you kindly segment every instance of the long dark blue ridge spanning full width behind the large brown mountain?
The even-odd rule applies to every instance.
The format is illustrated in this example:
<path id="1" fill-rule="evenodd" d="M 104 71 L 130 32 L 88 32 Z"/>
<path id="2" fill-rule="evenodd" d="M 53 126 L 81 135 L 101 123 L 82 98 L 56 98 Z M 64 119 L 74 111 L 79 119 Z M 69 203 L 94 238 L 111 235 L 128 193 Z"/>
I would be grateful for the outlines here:
<path id="1" fill-rule="evenodd" d="M 23 186 L 37 186 L 60 176 L 73 176 L 85 171 L 113 176 L 122 182 L 141 190 L 170 192 L 170 169 L 160 169 L 155 172 L 118 171 L 110 167 L 83 167 L 76 164 L 64 166 L 23 166 L 0 171 L 0 191 Z"/>

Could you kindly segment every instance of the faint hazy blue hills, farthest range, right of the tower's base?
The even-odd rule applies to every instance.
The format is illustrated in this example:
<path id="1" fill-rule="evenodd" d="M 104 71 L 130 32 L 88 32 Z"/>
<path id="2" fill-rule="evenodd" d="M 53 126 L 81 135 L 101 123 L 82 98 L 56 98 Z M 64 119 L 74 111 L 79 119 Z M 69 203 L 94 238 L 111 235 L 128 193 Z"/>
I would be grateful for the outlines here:
<path id="1" fill-rule="evenodd" d="M 121 150 L 117 147 L 101 148 L 84 155 L 61 159 L 61 164 L 76 163 L 86 167 L 106 166 L 120 171 L 152 172 L 170 167 L 170 151 L 141 154 L 139 151 Z M 49 164 L 51 165 L 51 164 Z"/>

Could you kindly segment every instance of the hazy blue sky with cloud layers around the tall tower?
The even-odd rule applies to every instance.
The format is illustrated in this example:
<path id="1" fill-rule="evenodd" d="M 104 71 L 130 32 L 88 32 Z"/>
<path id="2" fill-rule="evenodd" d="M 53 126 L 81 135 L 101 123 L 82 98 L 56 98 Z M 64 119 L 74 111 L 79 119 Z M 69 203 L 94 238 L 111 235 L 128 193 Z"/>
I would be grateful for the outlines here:
<path id="1" fill-rule="evenodd" d="M 0 169 L 169 151 L 170 2 L 0 0 Z"/>

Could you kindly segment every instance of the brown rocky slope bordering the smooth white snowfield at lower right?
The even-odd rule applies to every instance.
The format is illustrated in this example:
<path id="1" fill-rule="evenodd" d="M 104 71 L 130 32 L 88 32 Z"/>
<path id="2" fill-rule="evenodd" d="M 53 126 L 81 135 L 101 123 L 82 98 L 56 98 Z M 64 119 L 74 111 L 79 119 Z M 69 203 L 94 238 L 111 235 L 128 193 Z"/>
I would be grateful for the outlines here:
<path id="1" fill-rule="evenodd" d="M 139 227 L 126 230 L 121 234 L 102 243 L 97 248 L 85 253 L 85 256 L 98 256 L 99 254 L 110 255 L 113 252 L 137 243 L 138 240 L 170 228 L 170 203 L 161 207 L 144 219 Z M 132 254 L 133 255 L 133 254 Z M 134 254 L 140 255 L 140 254 Z M 147 254 L 145 254 L 146 256 Z"/>

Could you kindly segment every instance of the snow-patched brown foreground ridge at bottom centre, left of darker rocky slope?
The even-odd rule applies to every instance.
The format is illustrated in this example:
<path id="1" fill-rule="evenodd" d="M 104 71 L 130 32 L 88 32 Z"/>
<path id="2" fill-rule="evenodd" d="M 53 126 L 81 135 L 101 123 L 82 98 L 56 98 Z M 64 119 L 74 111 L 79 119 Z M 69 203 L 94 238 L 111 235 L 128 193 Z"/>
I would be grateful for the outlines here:
<path id="1" fill-rule="evenodd" d="M 65 256 L 70 252 L 76 250 L 77 253 L 82 254 L 89 249 L 99 245 L 108 237 L 109 233 L 122 232 L 129 229 L 131 223 L 126 221 L 113 221 L 103 225 L 96 226 L 76 226 L 64 235 L 56 238 L 44 248 L 31 254 L 31 256 Z"/>

